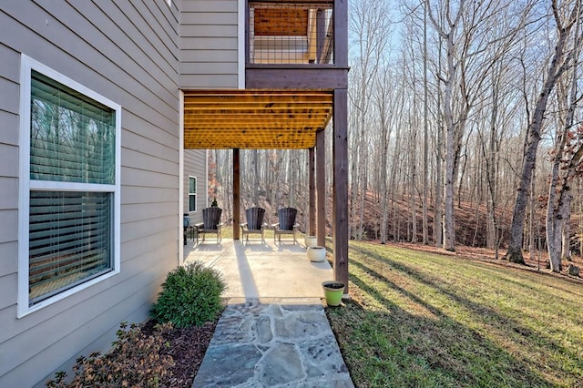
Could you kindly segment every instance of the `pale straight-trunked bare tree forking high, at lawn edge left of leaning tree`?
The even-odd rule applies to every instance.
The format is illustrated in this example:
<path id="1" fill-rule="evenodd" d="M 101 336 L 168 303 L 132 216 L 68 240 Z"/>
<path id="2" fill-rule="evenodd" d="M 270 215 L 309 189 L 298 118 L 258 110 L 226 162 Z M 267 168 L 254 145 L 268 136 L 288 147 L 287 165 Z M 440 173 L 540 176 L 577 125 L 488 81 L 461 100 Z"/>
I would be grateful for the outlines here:
<path id="1" fill-rule="evenodd" d="M 497 21 L 506 17 L 508 3 L 497 0 L 447 0 L 436 11 L 428 0 L 425 4 L 445 49 L 445 70 L 439 75 L 444 85 L 445 119 L 444 249 L 455 250 L 454 185 L 465 147 L 466 122 L 483 98 L 490 68 L 511 44 L 522 23 L 500 30 Z"/>

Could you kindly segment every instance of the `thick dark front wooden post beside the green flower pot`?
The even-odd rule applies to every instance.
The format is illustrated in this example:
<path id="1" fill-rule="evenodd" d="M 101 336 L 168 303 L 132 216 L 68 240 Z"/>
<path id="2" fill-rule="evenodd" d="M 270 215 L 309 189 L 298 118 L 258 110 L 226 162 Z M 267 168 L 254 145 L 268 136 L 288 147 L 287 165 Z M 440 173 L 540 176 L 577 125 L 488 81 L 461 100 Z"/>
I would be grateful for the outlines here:
<path id="1" fill-rule="evenodd" d="M 334 90 L 333 106 L 333 205 L 334 279 L 342 281 L 348 294 L 348 93 Z"/>

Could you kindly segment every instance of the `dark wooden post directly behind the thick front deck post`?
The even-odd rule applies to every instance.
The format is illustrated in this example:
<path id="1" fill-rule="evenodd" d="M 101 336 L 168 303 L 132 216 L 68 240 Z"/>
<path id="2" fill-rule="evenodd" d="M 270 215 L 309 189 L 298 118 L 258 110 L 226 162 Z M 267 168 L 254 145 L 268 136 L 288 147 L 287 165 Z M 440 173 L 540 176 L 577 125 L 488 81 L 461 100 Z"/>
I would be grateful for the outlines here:
<path id="1" fill-rule="evenodd" d="M 318 245 L 326 245 L 326 132 L 316 132 L 316 236 Z"/>

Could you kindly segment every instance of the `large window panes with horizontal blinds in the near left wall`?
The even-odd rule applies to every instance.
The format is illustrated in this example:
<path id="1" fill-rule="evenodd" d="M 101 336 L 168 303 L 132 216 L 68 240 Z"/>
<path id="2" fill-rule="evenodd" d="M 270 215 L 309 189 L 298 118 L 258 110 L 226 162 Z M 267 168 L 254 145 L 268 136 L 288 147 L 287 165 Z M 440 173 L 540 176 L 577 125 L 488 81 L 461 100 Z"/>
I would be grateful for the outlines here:
<path id="1" fill-rule="evenodd" d="M 33 307 L 117 270 L 120 108 L 32 66 L 29 74 L 27 301 Z"/>

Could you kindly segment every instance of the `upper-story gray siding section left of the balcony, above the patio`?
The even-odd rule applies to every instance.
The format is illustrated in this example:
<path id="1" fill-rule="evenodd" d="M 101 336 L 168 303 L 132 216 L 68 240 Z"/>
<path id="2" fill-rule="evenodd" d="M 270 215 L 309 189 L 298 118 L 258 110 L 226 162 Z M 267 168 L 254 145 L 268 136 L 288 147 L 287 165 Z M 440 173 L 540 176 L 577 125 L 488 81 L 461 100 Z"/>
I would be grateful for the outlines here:
<path id="1" fill-rule="evenodd" d="M 237 88 L 241 0 L 183 0 L 180 87 Z"/>

